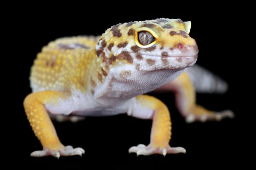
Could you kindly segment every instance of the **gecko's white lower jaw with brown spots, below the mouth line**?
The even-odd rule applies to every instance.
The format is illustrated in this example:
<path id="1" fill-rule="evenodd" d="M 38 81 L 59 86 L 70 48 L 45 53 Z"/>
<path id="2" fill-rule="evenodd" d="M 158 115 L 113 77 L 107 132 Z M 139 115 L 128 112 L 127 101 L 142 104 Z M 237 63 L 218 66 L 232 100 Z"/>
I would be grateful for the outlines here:
<path id="1" fill-rule="evenodd" d="M 153 56 L 141 55 L 143 59 L 136 61 L 138 71 L 154 71 L 154 70 L 180 70 L 191 67 L 195 64 L 198 54 L 192 56 Z"/>

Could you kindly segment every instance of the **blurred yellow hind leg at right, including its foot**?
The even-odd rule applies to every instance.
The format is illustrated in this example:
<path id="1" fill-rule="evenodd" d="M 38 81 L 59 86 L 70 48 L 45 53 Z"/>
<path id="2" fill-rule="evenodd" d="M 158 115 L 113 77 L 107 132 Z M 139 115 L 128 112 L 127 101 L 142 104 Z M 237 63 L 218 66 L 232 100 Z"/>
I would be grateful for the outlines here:
<path id="1" fill-rule="evenodd" d="M 233 111 L 210 111 L 196 103 L 196 91 L 185 72 L 172 82 L 163 85 L 156 91 L 175 91 L 176 106 L 187 123 L 221 121 L 224 118 L 234 118 Z"/>

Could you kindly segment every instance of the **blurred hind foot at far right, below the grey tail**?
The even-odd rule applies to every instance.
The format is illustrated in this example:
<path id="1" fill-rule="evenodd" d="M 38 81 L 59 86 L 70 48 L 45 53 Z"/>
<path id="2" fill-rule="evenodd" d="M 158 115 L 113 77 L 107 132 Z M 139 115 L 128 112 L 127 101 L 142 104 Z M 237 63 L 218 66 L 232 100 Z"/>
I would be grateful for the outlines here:
<path id="1" fill-rule="evenodd" d="M 233 119 L 235 117 L 233 111 L 225 110 L 221 112 L 215 112 L 213 114 L 193 114 L 190 113 L 186 116 L 186 122 L 206 122 L 206 121 L 221 121 L 224 118 Z"/>

